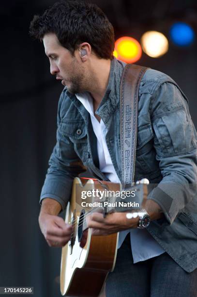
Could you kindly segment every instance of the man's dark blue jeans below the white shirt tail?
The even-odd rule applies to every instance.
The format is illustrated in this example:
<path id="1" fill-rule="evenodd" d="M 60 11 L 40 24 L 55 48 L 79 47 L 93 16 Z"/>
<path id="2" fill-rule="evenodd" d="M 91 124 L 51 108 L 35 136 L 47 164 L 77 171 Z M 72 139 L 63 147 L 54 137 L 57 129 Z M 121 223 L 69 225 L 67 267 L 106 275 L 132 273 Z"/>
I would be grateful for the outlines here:
<path id="1" fill-rule="evenodd" d="M 106 297 L 197 297 L 197 269 L 186 272 L 166 252 L 134 264 L 128 234 L 106 279 Z"/>

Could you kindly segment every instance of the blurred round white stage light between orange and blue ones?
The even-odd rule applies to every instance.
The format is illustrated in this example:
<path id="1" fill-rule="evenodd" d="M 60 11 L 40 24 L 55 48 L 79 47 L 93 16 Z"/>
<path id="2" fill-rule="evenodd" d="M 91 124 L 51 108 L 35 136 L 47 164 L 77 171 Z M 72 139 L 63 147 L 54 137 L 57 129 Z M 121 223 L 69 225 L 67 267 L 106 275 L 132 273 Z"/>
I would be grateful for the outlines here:
<path id="1" fill-rule="evenodd" d="M 169 48 L 166 36 L 157 31 L 144 33 L 141 38 L 141 45 L 143 51 L 152 58 L 163 56 Z"/>

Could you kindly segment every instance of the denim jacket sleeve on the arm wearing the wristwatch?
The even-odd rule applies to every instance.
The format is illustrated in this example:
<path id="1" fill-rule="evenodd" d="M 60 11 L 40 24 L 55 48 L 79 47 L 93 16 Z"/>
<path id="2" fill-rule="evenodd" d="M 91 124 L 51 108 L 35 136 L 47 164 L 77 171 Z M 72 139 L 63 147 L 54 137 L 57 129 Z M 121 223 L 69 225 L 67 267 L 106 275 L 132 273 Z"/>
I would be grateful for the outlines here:
<path id="1" fill-rule="evenodd" d="M 155 88 L 151 122 L 163 179 L 148 198 L 164 212 L 162 224 L 171 225 L 197 192 L 197 132 L 187 99 L 176 84 L 165 82 Z"/>

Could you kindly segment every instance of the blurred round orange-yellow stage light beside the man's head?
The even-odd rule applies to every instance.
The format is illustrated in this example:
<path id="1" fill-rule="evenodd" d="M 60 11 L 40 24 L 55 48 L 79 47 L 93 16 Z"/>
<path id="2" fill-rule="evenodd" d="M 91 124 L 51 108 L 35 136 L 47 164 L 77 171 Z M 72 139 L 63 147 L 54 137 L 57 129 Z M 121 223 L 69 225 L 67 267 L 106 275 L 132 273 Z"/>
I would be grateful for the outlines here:
<path id="1" fill-rule="evenodd" d="M 115 42 L 118 58 L 126 63 L 135 63 L 141 58 L 142 49 L 139 42 L 132 37 L 121 37 Z"/>

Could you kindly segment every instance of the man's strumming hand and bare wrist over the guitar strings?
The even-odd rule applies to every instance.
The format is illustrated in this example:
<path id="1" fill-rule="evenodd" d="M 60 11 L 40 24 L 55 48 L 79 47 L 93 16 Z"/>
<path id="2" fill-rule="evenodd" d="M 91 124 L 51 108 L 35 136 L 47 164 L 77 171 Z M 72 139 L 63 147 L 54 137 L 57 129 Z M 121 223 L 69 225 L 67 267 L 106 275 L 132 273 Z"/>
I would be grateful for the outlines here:
<path id="1" fill-rule="evenodd" d="M 49 247 L 65 246 L 73 232 L 73 227 L 57 215 L 60 210 L 61 206 L 56 200 L 45 198 L 42 201 L 39 225 Z"/>

